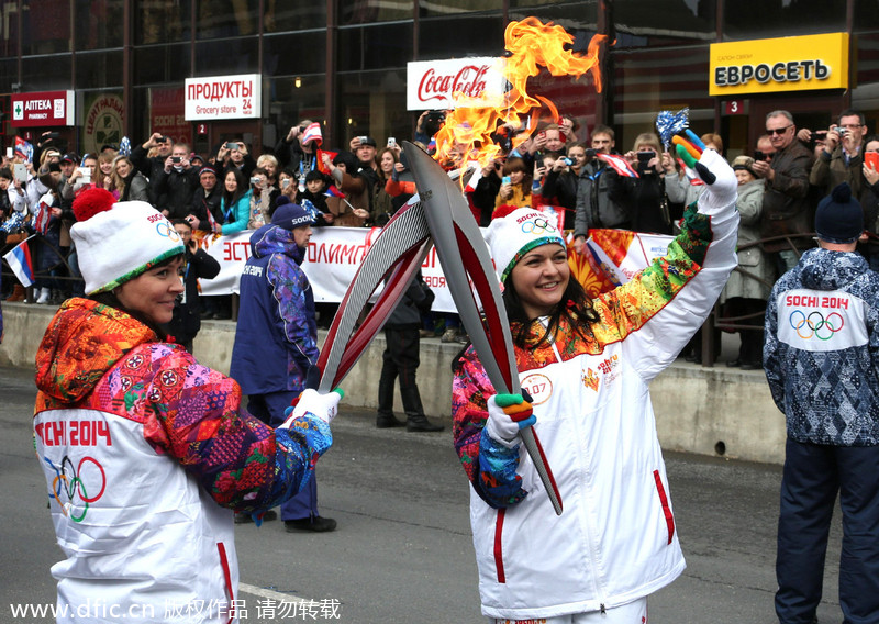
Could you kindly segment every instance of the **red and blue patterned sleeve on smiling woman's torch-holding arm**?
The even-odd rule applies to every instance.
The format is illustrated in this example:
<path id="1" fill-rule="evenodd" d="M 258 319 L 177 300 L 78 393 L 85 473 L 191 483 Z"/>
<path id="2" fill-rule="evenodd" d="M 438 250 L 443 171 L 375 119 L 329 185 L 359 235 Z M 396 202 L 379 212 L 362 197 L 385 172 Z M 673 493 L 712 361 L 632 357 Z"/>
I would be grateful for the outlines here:
<path id="1" fill-rule="evenodd" d="M 485 432 L 486 397 L 492 394 L 494 389 L 470 347 L 452 387 L 455 450 L 479 498 L 492 508 L 505 508 L 523 500 L 527 492 L 516 475 L 519 446 L 507 448 Z"/>

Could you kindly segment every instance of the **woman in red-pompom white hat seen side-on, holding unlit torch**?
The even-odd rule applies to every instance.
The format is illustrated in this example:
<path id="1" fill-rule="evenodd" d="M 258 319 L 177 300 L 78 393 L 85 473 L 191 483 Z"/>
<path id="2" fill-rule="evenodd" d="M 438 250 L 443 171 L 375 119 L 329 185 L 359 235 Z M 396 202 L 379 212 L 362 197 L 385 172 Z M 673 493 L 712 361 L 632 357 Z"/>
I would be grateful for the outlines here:
<path id="1" fill-rule="evenodd" d="M 277 430 L 247 414 L 233 379 L 163 341 L 183 290 L 168 220 L 104 189 L 74 212 L 87 298 L 66 301 L 43 337 L 34 415 L 65 555 L 52 568 L 59 613 L 90 621 L 103 601 L 125 622 L 157 622 L 203 605 L 189 621 L 237 622 L 233 510 L 262 517 L 308 482 L 340 395 L 303 393 Z"/>

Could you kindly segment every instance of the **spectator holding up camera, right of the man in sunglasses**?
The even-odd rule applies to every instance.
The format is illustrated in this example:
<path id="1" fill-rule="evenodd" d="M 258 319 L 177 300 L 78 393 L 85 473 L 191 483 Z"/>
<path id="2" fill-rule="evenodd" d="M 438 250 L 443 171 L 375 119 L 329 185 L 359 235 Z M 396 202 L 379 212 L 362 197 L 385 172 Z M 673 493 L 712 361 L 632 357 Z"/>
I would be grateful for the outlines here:
<path id="1" fill-rule="evenodd" d="M 867 124 L 864 115 L 856 110 L 846 110 L 839 114 L 838 125 L 832 125 L 824 137 L 824 148 L 817 152 L 815 164 L 809 174 L 809 183 L 820 189 L 821 197 L 843 182 L 852 187 L 852 194 L 863 197 L 864 183 L 864 137 Z M 800 131 L 799 137 L 806 141 L 821 137 L 817 132 L 806 129 Z"/>

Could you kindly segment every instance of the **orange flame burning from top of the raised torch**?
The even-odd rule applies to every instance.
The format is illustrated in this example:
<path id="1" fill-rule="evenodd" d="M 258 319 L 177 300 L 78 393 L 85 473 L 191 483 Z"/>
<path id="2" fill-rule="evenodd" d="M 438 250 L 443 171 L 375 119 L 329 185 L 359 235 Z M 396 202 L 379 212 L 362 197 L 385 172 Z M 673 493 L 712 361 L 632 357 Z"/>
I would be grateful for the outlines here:
<path id="1" fill-rule="evenodd" d="M 454 161 L 466 167 L 468 161 L 477 160 L 481 167 L 488 166 L 501 148 L 491 140 L 499 125 L 511 123 L 516 127 L 523 118 L 531 118 L 530 126 L 536 127 L 544 108 L 548 109 L 553 122 L 559 120 L 556 105 L 547 98 L 527 92 L 527 80 L 537 76 L 545 67 L 553 76 L 575 76 L 591 74 L 597 91 L 601 91 L 601 74 L 598 66 L 599 47 L 605 35 L 594 35 L 586 54 L 575 54 L 565 48 L 574 43 L 574 37 L 561 26 L 552 22 L 544 24 L 536 18 L 511 22 L 504 33 L 504 44 L 509 57 L 499 60 L 496 67 L 509 83 L 509 90 L 497 101 L 498 107 L 486 107 L 485 100 L 475 100 L 463 93 L 453 93 L 455 109 L 446 115 L 446 121 L 436 134 L 435 158 L 441 163 Z M 478 103 L 477 103 L 478 102 Z M 513 146 L 525 141 L 525 134 L 513 138 Z"/>

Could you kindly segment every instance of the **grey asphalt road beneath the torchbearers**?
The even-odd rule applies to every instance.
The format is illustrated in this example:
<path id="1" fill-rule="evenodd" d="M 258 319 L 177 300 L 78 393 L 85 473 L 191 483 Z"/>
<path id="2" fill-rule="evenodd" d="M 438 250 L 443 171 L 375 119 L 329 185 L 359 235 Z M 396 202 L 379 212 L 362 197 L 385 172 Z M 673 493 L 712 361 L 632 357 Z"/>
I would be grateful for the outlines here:
<path id="1" fill-rule="evenodd" d="M 0 623 L 10 605 L 51 604 L 59 559 L 33 454 L 32 372 L 0 368 Z M 321 459 L 322 515 L 330 534 L 288 534 L 280 522 L 236 527 L 242 624 L 345 622 L 481 623 L 468 520 L 468 486 L 448 431 L 376 430 L 372 415 L 342 410 Z M 649 599 L 652 623 L 770 624 L 780 467 L 667 454 L 688 568 Z M 836 514 L 822 624 L 842 621 Z M 311 600 L 308 615 L 300 600 Z M 283 603 L 286 606 L 282 606 Z M 272 609 L 274 608 L 274 609 Z M 243 614 L 244 615 L 244 614 Z"/>

